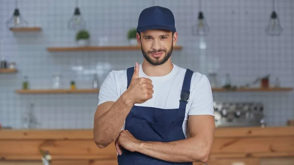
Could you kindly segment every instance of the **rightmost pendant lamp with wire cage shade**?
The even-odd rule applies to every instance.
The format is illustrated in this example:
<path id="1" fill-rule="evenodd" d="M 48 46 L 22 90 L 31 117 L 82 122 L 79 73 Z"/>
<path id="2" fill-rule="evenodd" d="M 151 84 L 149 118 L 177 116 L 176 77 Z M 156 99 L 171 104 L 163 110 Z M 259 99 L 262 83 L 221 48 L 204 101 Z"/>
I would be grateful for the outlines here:
<path id="1" fill-rule="evenodd" d="M 266 26 L 266 33 L 268 36 L 279 36 L 283 32 L 283 28 L 280 24 L 280 19 L 275 11 L 275 3 L 272 0 L 272 12 L 270 14 L 269 24 Z"/>

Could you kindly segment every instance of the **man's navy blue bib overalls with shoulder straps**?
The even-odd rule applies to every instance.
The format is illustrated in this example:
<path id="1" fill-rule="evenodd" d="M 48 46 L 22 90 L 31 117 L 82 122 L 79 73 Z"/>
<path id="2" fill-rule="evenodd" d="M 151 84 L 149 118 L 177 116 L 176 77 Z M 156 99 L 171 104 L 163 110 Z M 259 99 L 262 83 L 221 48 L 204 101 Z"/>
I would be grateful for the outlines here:
<path id="1" fill-rule="evenodd" d="M 131 82 L 134 67 L 127 69 L 127 88 Z M 154 107 L 133 106 L 125 119 L 125 130 L 141 141 L 178 141 L 185 139 L 183 121 L 185 118 L 187 100 L 190 94 L 190 83 L 193 71 L 187 69 L 179 108 L 160 109 Z M 166 162 L 139 152 L 123 149 L 118 155 L 119 165 L 193 165 L 193 163 Z"/>

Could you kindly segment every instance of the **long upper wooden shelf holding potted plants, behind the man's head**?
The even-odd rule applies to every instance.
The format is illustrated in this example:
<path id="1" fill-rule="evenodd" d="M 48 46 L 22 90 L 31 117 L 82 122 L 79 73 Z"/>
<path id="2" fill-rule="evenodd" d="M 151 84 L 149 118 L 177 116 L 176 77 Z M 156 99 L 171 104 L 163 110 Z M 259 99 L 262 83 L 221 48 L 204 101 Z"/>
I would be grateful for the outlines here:
<path id="1" fill-rule="evenodd" d="M 174 50 L 182 49 L 174 46 Z M 108 46 L 108 47 L 48 47 L 48 51 L 96 51 L 96 50 L 141 50 L 139 46 Z"/>

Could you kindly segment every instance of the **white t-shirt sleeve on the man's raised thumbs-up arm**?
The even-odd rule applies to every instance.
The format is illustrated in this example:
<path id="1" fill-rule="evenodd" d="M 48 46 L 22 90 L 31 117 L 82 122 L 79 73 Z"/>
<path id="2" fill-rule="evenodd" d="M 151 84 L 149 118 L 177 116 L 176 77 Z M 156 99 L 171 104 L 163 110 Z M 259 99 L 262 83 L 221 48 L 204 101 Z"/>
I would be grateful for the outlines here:
<path id="1" fill-rule="evenodd" d="M 103 81 L 98 96 L 98 105 L 107 102 L 107 101 L 117 101 L 119 98 L 117 92 L 117 84 L 116 84 L 116 77 L 115 71 L 111 71 L 105 80 Z"/>

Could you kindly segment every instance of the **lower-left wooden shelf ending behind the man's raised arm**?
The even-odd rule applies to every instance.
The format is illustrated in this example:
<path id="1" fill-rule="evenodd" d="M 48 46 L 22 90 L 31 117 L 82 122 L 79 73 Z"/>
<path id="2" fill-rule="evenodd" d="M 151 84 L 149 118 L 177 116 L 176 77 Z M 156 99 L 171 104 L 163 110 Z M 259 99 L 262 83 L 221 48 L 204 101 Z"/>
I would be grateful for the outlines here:
<path id="1" fill-rule="evenodd" d="M 99 89 L 31 89 L 17 90 L 18 94 L 95 94 Z"/>

